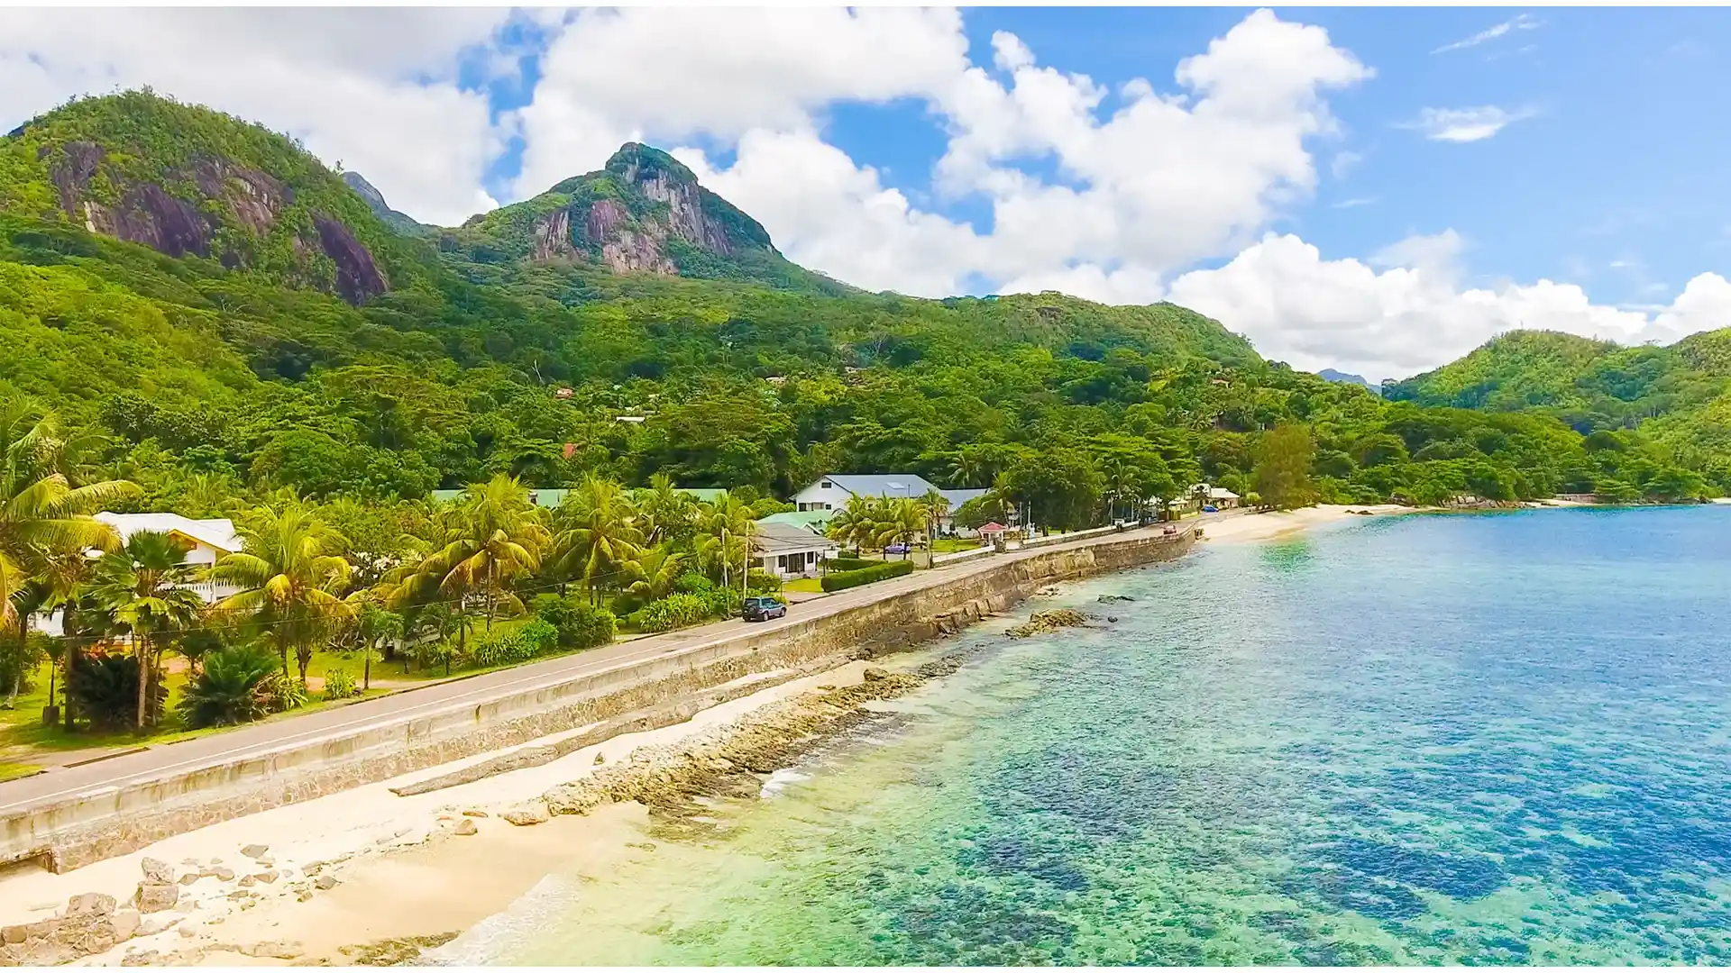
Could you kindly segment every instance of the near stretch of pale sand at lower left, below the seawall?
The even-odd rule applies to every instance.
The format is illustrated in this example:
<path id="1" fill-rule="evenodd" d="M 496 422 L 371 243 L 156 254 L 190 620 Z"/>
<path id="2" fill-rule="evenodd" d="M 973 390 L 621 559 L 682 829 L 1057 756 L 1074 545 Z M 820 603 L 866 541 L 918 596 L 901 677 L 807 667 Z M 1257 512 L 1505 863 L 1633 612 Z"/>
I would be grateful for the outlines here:
<path id="1" fill-rule="evenodd" d="M 639 834 L 642 819 L 642 809 L 635 805 L 604 807 L 583 817 L 556 817 L 547 824 L 514 828 L 497 817 L 500 810 L 592 774 L 597 755 L 604 764 L 618 764 L 637 748 L 701 736 L 760 706 L 819 686 L 852 686 L 862 679 L 864 668 L 864 663 L 848 663 L 713 706 L 684 724 L 616 736 L 550 764 L 471 784 L 415 796 L 389 791 L 509 750 L 237 817 L 64 874 L 35 866 L 14 867 L 0 874 L 0 925 L 52 918 L 54 909 L 83 892 L 102 892 L 125 904 L 142 878 L 140 860 L 152 857 L 175 866 L 177 874 L 199 871 L 183 866 L 183 860 L 197 859 L 204 867 L 215 867 L 213 862 L 220 859 L 222 867 L 234 869 L 235 878 L 204 878 L 180 886 L 180 904 L 175 909 L 145 916 L 147 925 L 175 923 L 171 928 L 133 937 L 107 954 L 87 957 L 83 964 L 118 964 L 126 952 L 171 954 L 270 940 L 298 942 L 308 957 L 341 959 L 336 954 L 341 945 L 457 931 L 502 911 L 554 867 L 583 869 L 628 854 L 627 843 Z M 552 743 L 582 729 L 585 727 L 573 727 L 523 746 Z M 469 809 L 488 812 L 488 817 L 476 819 L 479 833 L 452 834 L 464 821 L 460 812 Z M 228 895 L 241 890 L 241 878 L 267 871 L 267 866 L 241 854 L 242 847 L 254 843 L 268 845 L 263 857 L 280 878 L 253 885 L 249 892 L 258 899 L 232 900 Z M 312 890 L 312 880 L 306 878 L 310 866 L 319 866 L 320 876 L 338 878 L 339 885 Z M 310 900 L 298 902 L 298 895 L 306 890 L 312 890 Z M 227 950 L 211 952 L 208 961 L 287 963 Z"/>

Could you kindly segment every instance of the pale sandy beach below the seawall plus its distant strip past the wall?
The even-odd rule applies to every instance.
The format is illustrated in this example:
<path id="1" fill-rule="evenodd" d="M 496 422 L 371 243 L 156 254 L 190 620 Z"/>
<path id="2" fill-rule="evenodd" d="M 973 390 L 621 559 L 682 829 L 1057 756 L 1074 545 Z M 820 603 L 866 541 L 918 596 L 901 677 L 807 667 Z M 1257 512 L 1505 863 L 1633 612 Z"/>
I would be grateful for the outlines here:
<path id="1" fill-rule="evenodd" d="M 1271 540 L 1364 516 L 1350 511 L 1381 516 L 1407 507 L 1229 512 L 1203 521 L 1203 537 L 1208 544 Z M 137 935 L 78 964 L 344 964 L 410 957 L 417 947 L 436 945 L 504 911 L 552 871 L 582 876 L 653 854 L 649 814 L 639 803 L 602 803 L 531 826 L 509 824 L 500 817 L 507 810 L 634 755 L 696 751 L 775 705 L 822 706 L 826 693 L 860 686 L 866 670 L 866 663 L 848 663 L 713 706 L 685 724 L 618 736 L 469 784 L 415 796 L 391 791 L 509 751 L 227 821 L 64 874 L 14 867 L 0 874 L 0 926 L 48 919 L 69 897 L 90 892 L 113 895 L 126 909 L 145 860 L 154 859 L 178 881 L 178 902 L 138 916 Z M 372 956 L 357 949 L 369 944 L 389 945 L 383 952 L 376 945 Z"/>

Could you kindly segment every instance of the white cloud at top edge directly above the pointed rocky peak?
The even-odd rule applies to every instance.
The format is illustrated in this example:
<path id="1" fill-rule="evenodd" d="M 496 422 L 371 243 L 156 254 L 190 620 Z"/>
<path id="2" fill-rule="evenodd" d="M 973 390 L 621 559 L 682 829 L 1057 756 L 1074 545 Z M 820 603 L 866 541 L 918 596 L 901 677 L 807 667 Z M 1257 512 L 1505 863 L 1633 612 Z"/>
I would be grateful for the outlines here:
<path id="1" fill-rule="evenodd" d="M 587 9 L 542 57 L 518 116 L 516 190 L 601 168 L 620 144 L 803 132 L 840 100 L 924 95 L 968 64 L 956 10 Z"/>

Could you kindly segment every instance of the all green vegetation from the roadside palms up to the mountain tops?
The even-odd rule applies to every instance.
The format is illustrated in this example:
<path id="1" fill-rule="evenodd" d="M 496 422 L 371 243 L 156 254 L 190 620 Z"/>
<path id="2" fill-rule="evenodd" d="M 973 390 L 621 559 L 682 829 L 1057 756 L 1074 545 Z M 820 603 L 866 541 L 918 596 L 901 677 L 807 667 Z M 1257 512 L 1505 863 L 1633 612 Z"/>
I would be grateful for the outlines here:
<path id="1" fill-rule="evenodd" d="M 722 616 L 774 589 L 746 570 L 753 523 L 826 471 L 988 490 L 957 511 L 850 506 L 833 535 L 860 551 L 930 537 L 945 514 L 1091 526 L 1196 483 L 1274 507 L 1731 488 L 1722 338 L 1528 367 L 1549 362 L 1539 350 L 1392 402 L 1265 362 L 1168 303 L 834 286 L 777 263 L 710 197 L 755 263 L 692 251 L 691 277 L 621 275 L 594 241 L 537 260 L 526 241 L 559 206 L 656 213 L 621 171 L 568 182 L 403 234 L 291 140 L 147 93 L 0 139 L 9 698 L 45 675 L 66 725 L 234 722 L 341 684 L 336 654 L 367 691 L 376 661 L 447 673 Z M 90 223 L 138 242 L 87 229 L 140 199 L 183 203 L 190 235 L 144 239 L 161 225 L 144 216 Z M 1508 395 L 1470 393 L 1485 383 Z M 438 504 L 434 488 L 464 493 Z M 549 511 L 530 488 L 569 492 Z M 234 518 L 244 551 L 203 580 L 237 594 L 189 618 L 168 542 L 121 552 L 102 509 Z M 62 613 L 61 642 L 29 637 L 42 611 Z"/>

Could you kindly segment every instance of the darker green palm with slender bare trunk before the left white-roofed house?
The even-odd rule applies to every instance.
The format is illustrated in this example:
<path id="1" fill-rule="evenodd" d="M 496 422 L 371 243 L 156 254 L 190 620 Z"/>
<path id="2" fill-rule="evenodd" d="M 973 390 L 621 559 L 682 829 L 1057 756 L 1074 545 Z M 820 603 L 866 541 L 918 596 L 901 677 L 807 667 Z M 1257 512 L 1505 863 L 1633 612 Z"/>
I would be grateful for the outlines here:
<path id="1" fill-rule="evenodd" d="M 190 627 L 204 608 L 204 599 L 189 587 L 194 575 L 187 551 L 190 547 L 168 533 L 140 530 L 125 547 L 102 556 L 90 583 L 92 599 L 132 637 L 138 660 L 140 731 L 156 718 L 149 701 L 156 693 L 159 642 Z"/>

